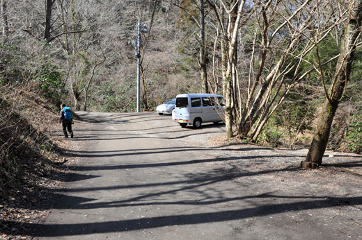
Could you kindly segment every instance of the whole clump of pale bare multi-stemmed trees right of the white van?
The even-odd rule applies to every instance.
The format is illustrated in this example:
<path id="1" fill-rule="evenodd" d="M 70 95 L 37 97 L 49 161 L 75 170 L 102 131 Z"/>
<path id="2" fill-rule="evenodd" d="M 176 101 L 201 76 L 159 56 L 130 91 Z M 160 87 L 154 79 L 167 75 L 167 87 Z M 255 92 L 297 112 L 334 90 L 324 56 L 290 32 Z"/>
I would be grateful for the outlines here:
<path id="1" fill-rule="evenodd" d="M 220 1 L 220 6 L 209 3 L 217 12 L 223 33 L 221 63 L 226 98 L 226 135 L 233 137 L 231 119 L 234 119 L 238 135 L 256 141 L 290 90 L 315 71 L 315 68 L 302 70 L 301 64 L 306 62 L 306 55 L 315 49 L 316 44 L 340 24 L 340 20 L 329 21 L 331 12 L 337 9 L 336 4 L 311 0 L 253 1 L 253 8 L 244 10 L 244 1 L 230 5 Z M 223 14 L 228 18 L 227 27 L 222 20 Z M 240 30 L 246 22 L 255 24 L 253 42 L 249 44 L 249 49 L 253 50 L 249 55 L 244 53 L 247 60 L 242 60 L 244 66 L 250 66 L 249 70 L 241 69 L 237 58 L 237 52 L 246 49 L 236 48 L 240 45 L 237 37 L 242 36 Z M 315 22 L 318 31 L 315 31 Z M 321 67 L 328 62 L 321 62 Z M 239 72 L 248 74 L 240 75 Z M 241 76 L 244 79 L 240 79 Z"/>

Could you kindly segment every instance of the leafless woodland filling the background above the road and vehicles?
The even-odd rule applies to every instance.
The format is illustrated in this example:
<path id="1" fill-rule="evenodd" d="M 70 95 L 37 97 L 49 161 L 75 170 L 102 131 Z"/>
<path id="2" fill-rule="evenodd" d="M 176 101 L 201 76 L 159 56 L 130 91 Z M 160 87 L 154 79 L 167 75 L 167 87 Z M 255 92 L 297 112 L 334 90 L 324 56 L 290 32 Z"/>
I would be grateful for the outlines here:
<path id="1" fill-rule="evenodd" d="M 221 94 L 228 138 L 321 164 L 362 152 L 361 19 L 357 0 L 1 0 L 0 87 L 54 112 Z"/>

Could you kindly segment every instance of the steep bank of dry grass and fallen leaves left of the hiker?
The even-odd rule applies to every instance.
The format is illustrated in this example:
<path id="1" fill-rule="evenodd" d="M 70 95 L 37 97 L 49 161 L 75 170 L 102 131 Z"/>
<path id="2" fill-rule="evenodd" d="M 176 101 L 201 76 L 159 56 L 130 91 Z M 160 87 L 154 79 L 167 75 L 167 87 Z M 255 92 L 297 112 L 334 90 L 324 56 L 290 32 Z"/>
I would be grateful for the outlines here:
<path id="1" fill-rule="evenodd" d="M 26 239 L 18 230 L 47 214 L 53 189 L 66 179 L 64 146 L 51 137 L 58 115 L 46 100 L 0 88 L 0 232 L 13 232 L 0 239 Z"/>

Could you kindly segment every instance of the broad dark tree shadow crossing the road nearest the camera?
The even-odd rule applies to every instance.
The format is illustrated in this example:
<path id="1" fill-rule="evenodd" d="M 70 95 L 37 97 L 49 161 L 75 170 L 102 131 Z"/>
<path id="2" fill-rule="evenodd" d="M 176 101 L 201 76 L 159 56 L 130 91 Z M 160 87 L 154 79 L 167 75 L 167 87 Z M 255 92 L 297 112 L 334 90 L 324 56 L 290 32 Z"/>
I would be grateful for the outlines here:
<path id="1" fill-rule="evenodd" d="M 288 198 L 288 196 L 274 196 L 272 194 L 261 194 L 255 196 L 246 196 L 243 198 L 224 199 L 245 200 L 255 198 Z M 161 228 L 174 225 L 197 225 L 201 223 L 216 223 L 223 221 L 242 220 L 246 218 L 255 218 L 260 216 L 270 216 L 285 212 L 300 212 L 304 210 L 326 209 L 330 207 L 343 207 L 352 205 L 362 205 L 362 197 L 337 198 L 337 197 L 315 197 L 310 199 L 306 196 L 294 197 L 300 201 L 293 203 L 269 204 L 234 210 L 223 210 L 219 212 L 201 212 L 195 214 L 174 214 L 171 216 L 155 216 L 146 218 L 134 218 L 120 221 L 101 221 L 95 223 L 64 223 L 47 224 L 41 223 L 22 223 L 19 228 L 19 234 L 26 234 L 24 229 L 36 229 L 33 237 L 65 237 L 79 236 L 84 234 L 109 233 L 109 232 L 127 232 L 132 230 L 145 230 L 150 228 Z M 79 200 L 89 200 L 80 199 Z M 216 201 L 217 202 L 217 201 Z M 220 202 L 220 201 L 219 201 Z M 153 203 L 150 203 L 153 204 Z M 170 204 L 180 204 L 178 202 Z M 190 203 L 183 203 L 190 204 Z M 202 205 L 203 203 L 196 203 Z M 214 204 L 214 203 L 213 203 Z M 14 225 L 11 221 L 4 221 L 2 224 Z M 19 224 L 18 224 L 19 225 Z M 6 232 L 4 232 L 6 234 Z"/>

